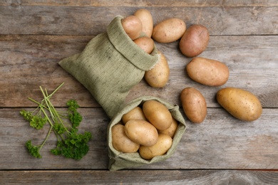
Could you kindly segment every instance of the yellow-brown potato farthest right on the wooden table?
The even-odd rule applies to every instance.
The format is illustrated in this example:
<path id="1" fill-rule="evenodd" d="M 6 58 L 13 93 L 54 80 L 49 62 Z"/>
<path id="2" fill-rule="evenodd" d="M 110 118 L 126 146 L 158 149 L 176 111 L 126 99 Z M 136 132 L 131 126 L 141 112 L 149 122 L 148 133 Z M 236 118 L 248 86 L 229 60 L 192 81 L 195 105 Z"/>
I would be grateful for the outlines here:
<path id="1" fill-rule="evenodd" d="M 227 112 L 243 121 L 254 121 L 262 115 L 259 99 L 247 90 L 223 88 L 217 92 L 217 102 Z"/>

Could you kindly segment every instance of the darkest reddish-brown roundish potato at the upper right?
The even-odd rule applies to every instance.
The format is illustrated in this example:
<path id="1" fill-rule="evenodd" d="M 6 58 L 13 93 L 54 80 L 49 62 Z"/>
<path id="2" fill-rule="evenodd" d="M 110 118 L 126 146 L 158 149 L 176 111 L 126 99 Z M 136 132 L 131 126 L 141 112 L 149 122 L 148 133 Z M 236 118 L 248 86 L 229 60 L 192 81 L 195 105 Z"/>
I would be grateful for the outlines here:
<path id="1" fill-rule="evenodd" d="M 210 33 L 205 26 L 193 24 L 180 39 L 180 51 L 187 57 L 200 55 L 207 48 Z"/>

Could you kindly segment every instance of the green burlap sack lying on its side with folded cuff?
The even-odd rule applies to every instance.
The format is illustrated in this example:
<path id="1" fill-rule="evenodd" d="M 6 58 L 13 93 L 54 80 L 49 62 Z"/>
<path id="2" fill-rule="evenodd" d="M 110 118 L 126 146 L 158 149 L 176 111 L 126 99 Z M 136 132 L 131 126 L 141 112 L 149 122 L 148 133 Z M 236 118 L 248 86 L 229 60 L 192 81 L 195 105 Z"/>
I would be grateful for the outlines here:
<path id="1" fill-rule="evenodd" d="M 158 50 L 145 53 L 123 30 L 122 16 L 115 16 L 107 31 L 93 38 L 82 53 L 65 58 L 59 65 L 82 83 L 113 117 L 126 95 L 143 79 L 145 70 L 159 59 Z"/>

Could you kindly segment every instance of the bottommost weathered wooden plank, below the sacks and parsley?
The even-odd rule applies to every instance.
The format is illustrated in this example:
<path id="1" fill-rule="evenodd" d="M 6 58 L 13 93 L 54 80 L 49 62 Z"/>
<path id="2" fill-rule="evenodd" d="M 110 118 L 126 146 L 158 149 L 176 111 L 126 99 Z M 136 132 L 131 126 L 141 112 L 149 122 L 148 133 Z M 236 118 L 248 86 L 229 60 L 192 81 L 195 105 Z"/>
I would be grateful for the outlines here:
<path id="1" fill-rule="evenodd" d="M 1 171 L 1 184 L 277 184 L 278 171 Z"/>

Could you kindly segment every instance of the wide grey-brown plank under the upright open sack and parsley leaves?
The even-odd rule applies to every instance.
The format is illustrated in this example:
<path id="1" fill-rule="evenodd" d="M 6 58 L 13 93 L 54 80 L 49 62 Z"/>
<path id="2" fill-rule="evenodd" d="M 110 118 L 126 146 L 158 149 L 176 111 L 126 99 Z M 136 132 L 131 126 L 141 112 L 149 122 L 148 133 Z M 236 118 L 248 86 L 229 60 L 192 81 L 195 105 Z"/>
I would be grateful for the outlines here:
<path id="1" fill-rule="evenodd" d="M 41 151 L 42 159 L 31 157 L 24 143 L 40 144 L 48 129 L 29 127 L 20 109 L 0 110 L 0 169 L 107 169 L 106 128 L 109 119 L 100 108 L 82 108 L 80 132 L 92 132 L 90 151 L 80 161 L 56 157 L 51 135 Z M 180 110 L 182 112 L 182 110 Z M 201 124 L 187 122 L 187 130 L 170 159 L 139 169 L 278 169 L 278 109 L 264 109 L 254 122 L 242 122 L 220 108 L 209 108 Z"/>

